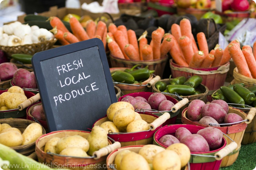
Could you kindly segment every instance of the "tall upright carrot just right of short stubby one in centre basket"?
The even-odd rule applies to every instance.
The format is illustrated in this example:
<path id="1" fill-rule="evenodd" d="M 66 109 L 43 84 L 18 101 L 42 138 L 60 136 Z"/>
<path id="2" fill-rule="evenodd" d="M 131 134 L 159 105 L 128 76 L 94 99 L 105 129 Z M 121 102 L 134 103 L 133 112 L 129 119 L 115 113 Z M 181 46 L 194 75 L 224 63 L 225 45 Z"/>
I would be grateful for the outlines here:
<path id="1" fill-rule="evenodd" d="M 161 57 L 161 40 L 162 40 L 162 35 L 158 31 L 153 31 L 152 32 L 152 41 L 153 41 L 153 58 L 159 59 Z"/>

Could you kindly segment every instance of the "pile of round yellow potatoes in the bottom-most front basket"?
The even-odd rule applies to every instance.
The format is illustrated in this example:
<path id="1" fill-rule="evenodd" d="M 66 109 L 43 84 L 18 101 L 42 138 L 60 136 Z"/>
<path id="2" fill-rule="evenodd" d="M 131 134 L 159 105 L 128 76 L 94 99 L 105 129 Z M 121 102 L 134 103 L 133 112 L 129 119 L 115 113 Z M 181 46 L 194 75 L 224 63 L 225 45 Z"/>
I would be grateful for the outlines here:
<path id="1" fill-rule="evenodd" d="M 118 170 L 180 170 L 190 159 L 190 150 L 183 143 L 175 143 L 164 149 L 156 145 L 144 145 L 138 153 L 128 149 L 115 156 L 114 166 Z"/>

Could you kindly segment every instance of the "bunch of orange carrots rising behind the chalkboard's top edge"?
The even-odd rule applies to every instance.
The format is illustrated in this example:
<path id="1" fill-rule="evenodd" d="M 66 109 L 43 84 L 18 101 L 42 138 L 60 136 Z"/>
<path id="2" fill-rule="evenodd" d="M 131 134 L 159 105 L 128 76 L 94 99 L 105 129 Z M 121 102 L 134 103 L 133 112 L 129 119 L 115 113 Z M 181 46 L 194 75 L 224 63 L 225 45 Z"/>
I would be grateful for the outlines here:
<path id="1" fill-rule="evenodd" d="M 73 17 L 72 15 L 69 15 L 69 18 L 70 28 L 73 34 L 68 31 L 68 29 L 58 17 L 49 18 L 50 24 L 53 28 L 50 31 L 62 45 L 77 43 L 79 41 L 89 40 L 91 38 L 99 38 L 102 40 L 106 49 L 107 27 L 104 22 L 99 21 L 96 25 L 94 21 L 88 20 L 86 23 L 86 30 L 84 30 L 83 26 L 77 20 L 77 18 Z"/>

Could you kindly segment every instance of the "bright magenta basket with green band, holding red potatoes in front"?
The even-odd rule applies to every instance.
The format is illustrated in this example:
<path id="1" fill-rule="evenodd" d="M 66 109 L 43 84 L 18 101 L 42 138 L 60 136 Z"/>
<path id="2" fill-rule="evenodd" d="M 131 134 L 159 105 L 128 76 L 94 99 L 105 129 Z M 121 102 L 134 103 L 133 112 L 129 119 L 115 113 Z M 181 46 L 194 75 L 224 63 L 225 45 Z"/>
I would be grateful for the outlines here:
<path id="1" fill-rule="evenodd" d="M 155 133 L 153 144 L 161 146 L 163 148 L 166 148 L 164 145 L 159 143 L 159 139 L 162 136 L 167 135 L 167 134 L 175 136 L 175 132 L 179 127 L 185 127 L 192 134 L 196 134 L 198 132 L 198 130 L 205 128 L 205 127 L 202 127 L 202 126 L 188 125 L 188 124 L 176 124 L 176 125 L 164 126 L 160 129 L 158 129 L 157 132 Z M 221 147 L 219 149 L 211 150 L 209 152 L 192 152 L 191 154 L 200 154 L 202 156 L 191 155 L 190 160 L 189 160 L 190 169 L 191 170 L 197 170 L 197 169 L 200 169 L 200 170 L 208 170 L 208 169 L 218 170 L 220 168 L 221 160 L 216 160 L 215 158 L 203 157 L 203 156 L 207 156 L 207 155 L 214 156 L 215 153 L 217 153 L 218 151 L 223 149 L 226 145 L 227 145 L 227 141 L 223 137 Z"/>

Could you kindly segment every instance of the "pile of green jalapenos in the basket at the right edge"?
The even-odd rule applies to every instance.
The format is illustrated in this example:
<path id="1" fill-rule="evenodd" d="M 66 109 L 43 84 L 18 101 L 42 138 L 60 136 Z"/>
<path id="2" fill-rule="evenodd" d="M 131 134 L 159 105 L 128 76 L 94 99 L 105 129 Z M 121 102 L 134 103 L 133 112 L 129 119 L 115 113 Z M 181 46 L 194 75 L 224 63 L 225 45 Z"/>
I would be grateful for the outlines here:
<path id="1" fill-rule="evenodd" d="M 244 83 L 232 84 L 227 87 L 221 86 L 211 97 L 216 100 L 224 100 L 227 103 L 246 104 L 256 107 L 256 85 L 244 86 Z M 237 105 L 237 107 L 245 108 L 245 106 L 241 105 Z"/>

